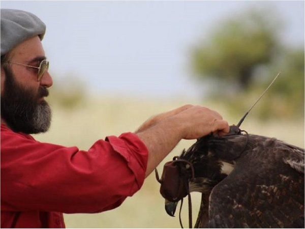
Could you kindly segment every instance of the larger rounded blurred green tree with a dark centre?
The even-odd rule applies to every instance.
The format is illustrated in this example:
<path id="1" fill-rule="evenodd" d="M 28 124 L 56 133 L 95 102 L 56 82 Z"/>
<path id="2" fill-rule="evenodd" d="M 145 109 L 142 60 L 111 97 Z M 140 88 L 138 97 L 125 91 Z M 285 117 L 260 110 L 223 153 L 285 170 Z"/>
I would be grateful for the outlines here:
<path id="1" fill-rule="evenodd" d="M 248 89 L 256 68 L 269 63 L 279 48 L 278 28 L 278 21 L 258 10 L 226 20 L 208 41 L 193 49 L 195 75 L 235 82 L 239 90 Z"/>

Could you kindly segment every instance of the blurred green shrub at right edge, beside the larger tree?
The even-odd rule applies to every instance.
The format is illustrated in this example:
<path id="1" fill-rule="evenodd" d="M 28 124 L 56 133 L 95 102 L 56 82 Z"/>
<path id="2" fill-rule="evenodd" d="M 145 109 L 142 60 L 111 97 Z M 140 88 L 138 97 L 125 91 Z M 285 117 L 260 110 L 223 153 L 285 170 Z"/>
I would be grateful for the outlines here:
<path id="1" fill-rule="evenodd" d="M 262 101 L 261 115 L 270 118 L 273 113 L 284 118 L 304 117 L 304 49 L 286 50 L 281 60 L 272 63 L 269 75 L 281 71 L 266 99 Z M 265 82 L 259 84 L 262 90 Z M 271 107 L 270 107 L 271 106 Z M 272 110 L 272 112 L 268 111 Z"/>

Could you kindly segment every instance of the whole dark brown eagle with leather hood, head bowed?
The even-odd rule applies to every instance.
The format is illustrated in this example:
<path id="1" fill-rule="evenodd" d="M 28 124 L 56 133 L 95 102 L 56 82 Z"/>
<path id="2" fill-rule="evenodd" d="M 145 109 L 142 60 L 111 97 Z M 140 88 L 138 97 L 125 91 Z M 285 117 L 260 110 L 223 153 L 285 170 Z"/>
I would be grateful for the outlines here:
<path id="1" fill-rule="evenodd" d="M 282 140 L 233 125 L 197 139 L 156 175 L 171 216 L 190 192 L 202 193 L 196 228 L 304 228 L 304 149 Z"/>

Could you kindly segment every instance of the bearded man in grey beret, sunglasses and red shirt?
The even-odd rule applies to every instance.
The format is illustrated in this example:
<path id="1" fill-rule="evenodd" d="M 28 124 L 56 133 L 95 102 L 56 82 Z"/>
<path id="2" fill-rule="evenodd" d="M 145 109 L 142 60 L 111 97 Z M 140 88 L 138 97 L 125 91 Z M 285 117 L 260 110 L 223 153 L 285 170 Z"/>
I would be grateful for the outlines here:
<path id="1" fill-rule="evenodd" d="M 32 13 L 1 10 L 1 227 L 65 227 L 63 213 L 116 208 L 180 139 L 229 131 L 216 111 L 185 105 L 86 152 L 36 141 L 51 120 L 45 30 Z"/>

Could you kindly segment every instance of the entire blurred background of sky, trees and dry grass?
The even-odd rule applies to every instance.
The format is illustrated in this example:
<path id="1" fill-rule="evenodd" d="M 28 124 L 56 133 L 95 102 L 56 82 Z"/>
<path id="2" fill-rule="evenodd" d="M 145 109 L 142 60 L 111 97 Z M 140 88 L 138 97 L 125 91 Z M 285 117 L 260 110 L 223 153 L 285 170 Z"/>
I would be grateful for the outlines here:
<path id="1" fill-rule="evenodd" d="M 230 124 L 282 72 L 241 125 L 304 147 L 303 1 L 1 1 L 47 25 L 53 77 L 50 131 L 41 141 L 87 150 L 186 103 Z M 182 140 L 158 166 L 194 141 Z M 193 217 L 200 195 L 193 195 Z M 187 225 L 187 204 L 182 220 Z M 177 214 L 176 214 L 177 215 Z M 180 227 L 154 175 L 117 209 L 65 215 L 67 227 Z"/>

